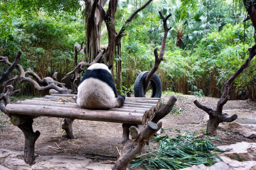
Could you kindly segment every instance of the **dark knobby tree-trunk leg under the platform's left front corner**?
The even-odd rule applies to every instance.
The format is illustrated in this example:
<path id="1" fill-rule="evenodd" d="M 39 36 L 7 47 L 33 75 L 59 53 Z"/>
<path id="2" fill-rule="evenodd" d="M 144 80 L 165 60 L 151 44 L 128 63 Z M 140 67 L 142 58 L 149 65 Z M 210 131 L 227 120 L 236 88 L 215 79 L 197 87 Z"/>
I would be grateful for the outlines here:
<path id="1" fill-rule="evenodd" d="M 18 125 L 19 129 L 25 136 L 24 145 L 24 160 L 26 164 L 32 165 L 35 163 L 35 142 L 40 136 L 40 132 L 33 132 L 33 119 L 29 118 L 24 124 Z"/>

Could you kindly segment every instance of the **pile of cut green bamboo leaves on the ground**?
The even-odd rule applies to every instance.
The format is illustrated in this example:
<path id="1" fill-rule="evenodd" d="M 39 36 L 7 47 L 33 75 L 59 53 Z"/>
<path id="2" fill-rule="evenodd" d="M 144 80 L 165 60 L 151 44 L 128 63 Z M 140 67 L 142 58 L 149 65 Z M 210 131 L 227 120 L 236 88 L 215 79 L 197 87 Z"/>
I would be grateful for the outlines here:
<path id="1" fill-rule="evenodd" d="M 220 157 L 213 153 L 223 152 L 216 149 L 210 138 L 196 139 L 193 132 L 169 138 L 161 136 L 154 139 L 159 143 L 158 150 L 149 152 L 148 155 L 132 160 L 129 167 L 142 166 L 146 169 L 182 169 L 193 165 L 205 164 L 211 166 Z"/>

